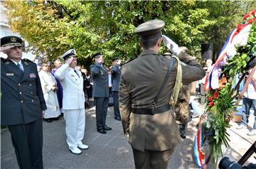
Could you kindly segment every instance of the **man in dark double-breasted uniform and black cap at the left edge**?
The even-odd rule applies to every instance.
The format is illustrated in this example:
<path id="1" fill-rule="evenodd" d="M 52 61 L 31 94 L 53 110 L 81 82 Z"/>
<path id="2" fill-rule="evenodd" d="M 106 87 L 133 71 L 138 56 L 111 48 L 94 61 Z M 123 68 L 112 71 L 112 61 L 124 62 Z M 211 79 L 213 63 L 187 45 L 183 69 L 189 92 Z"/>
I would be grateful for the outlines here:
<path id="1" fill-rule="evenodd" d="M 43 126 L 46 102 L 36 64 L 22 58 L 22 39 L 1 38 L 1 125 L 11 132 L 19 168 L 43 168 Z"/>

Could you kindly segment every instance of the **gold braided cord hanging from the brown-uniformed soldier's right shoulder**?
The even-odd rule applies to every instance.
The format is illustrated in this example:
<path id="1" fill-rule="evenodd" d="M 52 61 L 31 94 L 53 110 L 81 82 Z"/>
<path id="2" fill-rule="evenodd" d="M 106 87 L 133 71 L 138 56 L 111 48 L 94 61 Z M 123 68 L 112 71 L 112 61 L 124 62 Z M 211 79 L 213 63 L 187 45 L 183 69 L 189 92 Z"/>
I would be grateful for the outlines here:
<path id="1" fill-rule="evenodd" d="M 171 99 L 169 102 L 169 104 L 172 107 L 174 107 L 178 99 L 178 93 L 182 86 L 182 69 L 181 69 L 181 61 L 178 59 L 178 57 L 176 56 L 172 56 L 172 57 L 177 60 L 177 75 L 176 75 L 176 80 L 174 84 L 174 89 L 173 89 L 173 92 L 171 93 Z"/>

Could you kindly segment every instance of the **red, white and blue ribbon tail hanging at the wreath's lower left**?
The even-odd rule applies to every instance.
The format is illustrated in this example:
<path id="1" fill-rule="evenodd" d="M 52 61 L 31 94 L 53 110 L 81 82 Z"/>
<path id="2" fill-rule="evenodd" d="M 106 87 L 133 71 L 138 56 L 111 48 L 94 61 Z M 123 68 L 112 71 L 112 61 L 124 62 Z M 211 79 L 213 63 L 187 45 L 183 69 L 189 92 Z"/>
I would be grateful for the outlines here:
<path id="1" fill-rule="evenodd" d="M 203 117 L 201 116 L 193 145 L 196 165 L 198 165 L 200 168 L 203 168 L 203 165 L 205 165 L 205 152 L 203 151 L 203 131 L 201 125 L 202 118 Z"/>

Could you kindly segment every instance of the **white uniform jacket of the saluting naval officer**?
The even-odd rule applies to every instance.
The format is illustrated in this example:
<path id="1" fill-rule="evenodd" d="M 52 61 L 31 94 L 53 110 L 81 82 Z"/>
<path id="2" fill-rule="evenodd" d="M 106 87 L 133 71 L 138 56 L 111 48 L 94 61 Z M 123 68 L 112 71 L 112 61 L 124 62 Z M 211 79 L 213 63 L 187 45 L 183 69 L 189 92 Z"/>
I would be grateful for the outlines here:
<path id="1" fill-rule="evenodd" d="M 54 74 L 63 87 L 63 109 L 85 108 L 82 73 L 78 70 L 76 71 L 80 77 L 78 77 L 73 68 L 65 63 Z"/>

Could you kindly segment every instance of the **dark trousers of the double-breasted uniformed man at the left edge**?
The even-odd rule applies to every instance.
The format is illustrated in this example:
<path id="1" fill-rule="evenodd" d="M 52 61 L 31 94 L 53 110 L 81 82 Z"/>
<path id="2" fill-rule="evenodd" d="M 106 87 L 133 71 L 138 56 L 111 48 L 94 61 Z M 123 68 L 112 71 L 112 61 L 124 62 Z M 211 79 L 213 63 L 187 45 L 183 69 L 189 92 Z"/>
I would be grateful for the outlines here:
<path id="1" fill-rule="evenodd" d="M 43 125 L 42 119 L 29 124 L 9 125 L 19 168 L 43 168 Z"/>

